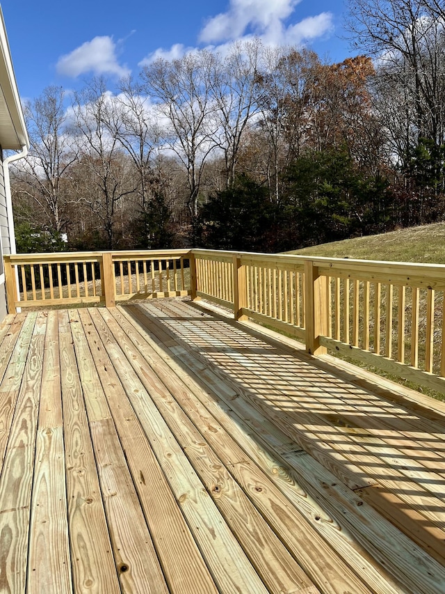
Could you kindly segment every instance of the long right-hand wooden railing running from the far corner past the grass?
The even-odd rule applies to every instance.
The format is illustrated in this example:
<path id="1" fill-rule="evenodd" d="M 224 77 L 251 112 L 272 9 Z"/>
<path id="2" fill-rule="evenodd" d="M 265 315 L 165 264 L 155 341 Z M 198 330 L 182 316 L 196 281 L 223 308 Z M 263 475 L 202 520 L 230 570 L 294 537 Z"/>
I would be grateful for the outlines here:
<path id="1" fill-rule="evenodd" d="M 445 265 L 192 252 L 197 297 L 236 319 L 445 392 Z"/>

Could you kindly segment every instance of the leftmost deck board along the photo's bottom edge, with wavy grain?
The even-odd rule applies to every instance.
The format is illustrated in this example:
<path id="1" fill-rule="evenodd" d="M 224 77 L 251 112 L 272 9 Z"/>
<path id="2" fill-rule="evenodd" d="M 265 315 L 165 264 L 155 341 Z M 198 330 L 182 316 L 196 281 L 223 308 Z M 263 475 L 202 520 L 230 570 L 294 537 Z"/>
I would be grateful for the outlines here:
<path id="1" fill-rule="evenodd" d="M 23 593 L 26 589 L 31 485 L 35 458 L 40 382 L 46 316 L 33 328 L 19 391 L 17 414 L 10 429 L 0 490 L 0 589 Z M 20 377 L 22 380 L 22 377 Z"/>

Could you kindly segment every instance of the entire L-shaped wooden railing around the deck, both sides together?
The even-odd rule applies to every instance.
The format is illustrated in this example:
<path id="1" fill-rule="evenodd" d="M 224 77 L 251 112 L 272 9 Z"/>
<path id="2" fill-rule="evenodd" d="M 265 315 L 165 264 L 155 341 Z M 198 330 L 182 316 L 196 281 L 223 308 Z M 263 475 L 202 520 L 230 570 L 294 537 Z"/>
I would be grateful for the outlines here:
<path id="1" fill-rule="evenodd" d="M 445 392 L 445 265 L 214 250 L 4 258 L 9 311 L 191 295 Z"/>

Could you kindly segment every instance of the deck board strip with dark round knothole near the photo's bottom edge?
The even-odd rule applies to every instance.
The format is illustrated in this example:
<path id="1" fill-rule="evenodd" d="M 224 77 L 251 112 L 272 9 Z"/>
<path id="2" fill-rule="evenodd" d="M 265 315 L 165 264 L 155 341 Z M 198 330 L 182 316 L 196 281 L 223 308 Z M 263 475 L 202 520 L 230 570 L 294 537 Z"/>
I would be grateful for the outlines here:
<path id="1" fill-rule="evenodd" d="M 168 589 L 111 419 L 102 384 L 79 322 L 79 312 L 70 311 L 69 315 L 102 499 L 122 592 L 166 593 Z"/>

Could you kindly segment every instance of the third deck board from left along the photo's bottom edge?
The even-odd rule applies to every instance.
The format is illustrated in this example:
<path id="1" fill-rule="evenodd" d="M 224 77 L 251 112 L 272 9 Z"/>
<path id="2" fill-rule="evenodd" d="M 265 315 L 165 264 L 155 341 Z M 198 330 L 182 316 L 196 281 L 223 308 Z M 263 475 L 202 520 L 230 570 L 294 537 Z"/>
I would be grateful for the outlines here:
<path id="1" fill-rule="evenodd" d="M 67 311 L 59 331 L 74 592 L 120 594 Z"/>

